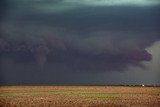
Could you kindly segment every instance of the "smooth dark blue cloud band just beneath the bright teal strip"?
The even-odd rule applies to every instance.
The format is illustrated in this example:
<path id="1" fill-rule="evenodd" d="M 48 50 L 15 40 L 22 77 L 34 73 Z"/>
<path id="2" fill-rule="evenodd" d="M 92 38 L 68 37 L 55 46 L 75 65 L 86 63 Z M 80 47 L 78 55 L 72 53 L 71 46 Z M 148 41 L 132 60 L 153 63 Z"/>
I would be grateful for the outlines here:
<path id="1" fill-rule="evenodd" d="M 54 10 L 54 9 L 53 9 Z M 8 17 L 21 24 L 65 27 L 65 29 L 92 30 L 159 30 L 160 8 L 157 7 L 83 7 L 67 12 L 48 13 L 38 10 Z M 52 9 L 50 10 L 52 11 Z M 17 11 L 16 11 L 17 12 Z"/>

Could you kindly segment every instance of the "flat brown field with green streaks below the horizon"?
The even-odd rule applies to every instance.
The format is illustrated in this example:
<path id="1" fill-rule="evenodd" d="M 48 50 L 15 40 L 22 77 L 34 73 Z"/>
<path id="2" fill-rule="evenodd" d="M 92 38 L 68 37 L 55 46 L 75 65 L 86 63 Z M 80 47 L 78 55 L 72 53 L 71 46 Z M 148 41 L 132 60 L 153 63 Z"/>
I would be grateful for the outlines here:
<path id="1" fill-rule="evenodd" d="M 160 107 L 160 87 L 1 86 L 0 107 Z"/>

